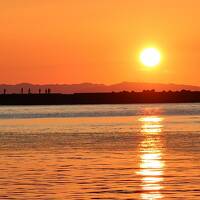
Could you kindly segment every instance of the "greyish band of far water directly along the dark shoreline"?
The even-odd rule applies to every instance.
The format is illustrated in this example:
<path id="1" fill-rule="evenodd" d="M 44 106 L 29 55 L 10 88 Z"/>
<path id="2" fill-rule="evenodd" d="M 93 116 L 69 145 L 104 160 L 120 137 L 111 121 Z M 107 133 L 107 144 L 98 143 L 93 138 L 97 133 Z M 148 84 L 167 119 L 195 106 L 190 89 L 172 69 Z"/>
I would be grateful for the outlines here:
<path id="1" fill-rule="evenodd" d="M 200 104 L 4 106 L 0 119 L 200 115 Z"/>

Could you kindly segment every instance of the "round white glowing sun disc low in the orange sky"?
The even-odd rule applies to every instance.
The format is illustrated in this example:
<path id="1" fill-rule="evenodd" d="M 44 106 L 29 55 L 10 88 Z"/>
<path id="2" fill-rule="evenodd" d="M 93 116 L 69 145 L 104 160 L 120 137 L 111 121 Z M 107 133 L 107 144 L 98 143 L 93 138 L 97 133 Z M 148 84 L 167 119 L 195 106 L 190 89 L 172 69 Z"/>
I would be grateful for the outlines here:
<path id="1" fill-rule="evenodd" d="M 146 67 L 156 67 L 161 61 L 160 51 L 156 48 L 146 48 L 140 53 L 140 61 Z"/>

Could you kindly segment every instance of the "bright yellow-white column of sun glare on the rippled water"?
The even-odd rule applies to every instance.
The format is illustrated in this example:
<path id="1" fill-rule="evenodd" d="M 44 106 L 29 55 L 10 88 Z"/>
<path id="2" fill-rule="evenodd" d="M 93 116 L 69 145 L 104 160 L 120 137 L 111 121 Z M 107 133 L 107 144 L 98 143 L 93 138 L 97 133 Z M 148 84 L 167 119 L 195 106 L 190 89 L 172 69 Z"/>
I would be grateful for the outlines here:
<path id="1" fill-rule="evenodd" d="M 141 199 L 162 199 L 161 192 L 164 181 L 163 144 L 160 137 L 162 133 L 162 121 L 160 117 L 143 117 L 139 121 L 144 140 L 140 144 L 140 169 L 137 172 L 141 176 L 143 193 Z"/>

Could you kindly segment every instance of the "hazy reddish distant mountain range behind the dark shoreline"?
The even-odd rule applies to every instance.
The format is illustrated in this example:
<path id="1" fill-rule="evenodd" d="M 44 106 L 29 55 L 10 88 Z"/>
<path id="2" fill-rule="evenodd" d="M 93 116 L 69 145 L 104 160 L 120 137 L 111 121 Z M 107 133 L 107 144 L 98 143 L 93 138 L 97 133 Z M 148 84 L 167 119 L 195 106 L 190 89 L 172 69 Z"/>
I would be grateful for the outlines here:
<path id="1" fill-rule="evenodd" d="M 191 90 L 200 91 L 200 86 L 192 85 L 178 85 L 178 84 L 161 84 L 161 83 L 136 83 L 136 82 L 122 82 L 118 84 L 105 85 L 105 84 L 93 84 L 93 83 L 80 83 L 80 84 L 47 84 L 37 85 L 30 83 L 20 83 L 16 85 L 0 85 L 0 93 L 45 93 L 50 90 L 52 93 L 95 93 L 95 92 L 120 92 L 120 91 L 136 91 L 143 90 L 156 91 L 180 91 Z"/>

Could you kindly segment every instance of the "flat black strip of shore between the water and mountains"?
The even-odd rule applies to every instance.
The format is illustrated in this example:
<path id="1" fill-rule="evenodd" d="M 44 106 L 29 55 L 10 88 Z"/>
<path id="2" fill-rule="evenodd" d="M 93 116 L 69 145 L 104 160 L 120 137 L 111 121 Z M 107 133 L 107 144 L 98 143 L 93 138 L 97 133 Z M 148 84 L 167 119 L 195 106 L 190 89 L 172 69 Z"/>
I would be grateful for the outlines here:
<path id="1" fill-rule="evenodd" d="M 109 92 L 75 94 L 0 94 L 0 105 L 200 103 L 200 91 Z"/>

